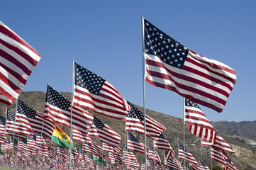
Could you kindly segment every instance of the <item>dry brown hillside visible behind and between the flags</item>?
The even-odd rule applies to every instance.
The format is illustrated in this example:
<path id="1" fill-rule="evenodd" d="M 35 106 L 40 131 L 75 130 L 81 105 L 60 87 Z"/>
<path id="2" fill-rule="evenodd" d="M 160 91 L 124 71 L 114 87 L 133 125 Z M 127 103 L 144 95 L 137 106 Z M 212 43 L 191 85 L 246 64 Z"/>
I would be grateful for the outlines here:
<path id="1" fill-rule="evenodd" d="M 62 93 L 67 98 L 71 98 L 71 94 Z M 27 103 L 29 106 L 35 108 L 35 110 L 43 112 L 44 103 L 45 103 L 45 92 L 42 91 L 30 91 L 30 92 L 21 92 L 20 99 Z M 10 108 L 14 110 L 16 103 L 13 104 Z M 137 106 L 140 111 L 143 111 L 143 108 Z M 1 115 L 5 115 L 6 106 L 0 104 Z M 174 118 L 170 115 L 165 115 L 162 113 L 158 113 L 156 111 L 146 110 L 146 114 L 151 118 L 154 118 L 167 129 L 164 134 L 169 140 L 174 152 L 176 154 L 176 158 L 178 158 L 178 146 L 177 140 L 180 139 L 183 141 L 183 120 L 180 118 Z M 108 118 L 103 115 L 97 115 L 98 118 L 104 121 L 107 125 L 109 125 L 113 130 L 115 130 L 119 135 L 121 135 L 121 145 L 124 142 L 125 137 L 125 122 L 120 120 L 115 120 L 113 118 Z M 228 122 L 214 122 L 213 127 L 218 130 L 219 134 L 223 137 L 226 142 L 228 142 L 233 149 L 235 149 L 236 154 L 228 154 L 235 166 L 238 169 L 256 169 L 256 147 L 250 147 L 247 145 L 248 138 L 254 139 L 255 137 L 255 122 L 241 122 L 241 123 L 228 123 Z M 69 134 L 68 128 L 63 128 L 65 132 Z M 253 131 L 252 131 L 253 130 Z M 251 133 L 251 134 L 250 134 Z M 247 135 L 245 135 L 247 134 Z M 135 134 L 139 137 L 140 142 L 144 142 L 144 136 L 140 134 Z M 191 135 L 187 125 L 185 126 L 185 145 L 191 149 L 191 152 L 194 154 L 194 157 L 199 162 L 200 158 L 200 139 Z M 93 138 L 95 142 L 99 145 L 102 145 L 99 140 Z M 147 139 L 147 142 L 149 140 Z M 152 143 L 152 141 L 150 141 Z M 81 142 L 74 142 L 75 146 L 82 147 Z M 210 158 L 210 148 L 202 147 L 203 152 L 203 160 L 206 162 L 208 166 L 211 166 L 211 158 Z M 164 153 L 162 150 L 157 149 L 157 153 L 160 155 L 162 162 L 164 159 Z M 107 153 L 104 153 L 107 154 Z M 138 162 L 141 162 L 141 158 L 144 157 L 143 154 L 135 153 L 135 156 L 138 158 Z M 220 164 L 218 164 L 220 165 Z M 217 166 L 217 163 L 213 161 L 213 166 Z"/>

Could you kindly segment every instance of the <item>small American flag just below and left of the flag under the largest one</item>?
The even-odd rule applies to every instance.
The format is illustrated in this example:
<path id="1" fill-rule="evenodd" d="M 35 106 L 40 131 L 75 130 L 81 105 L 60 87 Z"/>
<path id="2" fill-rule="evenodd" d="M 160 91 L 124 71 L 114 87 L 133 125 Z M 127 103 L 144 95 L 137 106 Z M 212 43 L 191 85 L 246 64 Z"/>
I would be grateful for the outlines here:
<path id="1" fill-rule="evenodd" d="M 196 162 L 196 159 L 194 158 L 193 154 L 187 147 L 184 146 L 184 143 L 180 140 L 178 140 L 179 143 L 179 159 L 184 159 L 184 154 L 185 154 L 185 161 L 190 162 L 191 164 L 198 164 Z M 185 148 L 185 153 L 184 153 L 184 148 Z"/>

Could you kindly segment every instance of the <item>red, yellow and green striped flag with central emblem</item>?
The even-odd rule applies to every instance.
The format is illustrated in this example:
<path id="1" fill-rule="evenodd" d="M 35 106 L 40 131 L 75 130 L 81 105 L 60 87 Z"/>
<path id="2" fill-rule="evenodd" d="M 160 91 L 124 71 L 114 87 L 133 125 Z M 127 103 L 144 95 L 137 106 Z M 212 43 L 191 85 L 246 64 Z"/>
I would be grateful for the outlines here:
<path id="1" fill-rule="evenodd" d="M 70 147 L 70 142 L 71 142 L 72 143 L 71 148 L 74 149 L 73 141 L 57 125 L 55 125 L 55 129 L 52 132 L 52 142 L 57 143 L 58 145 L 61 145 L 62 147 L 67 147 L 67 148 Z"/>

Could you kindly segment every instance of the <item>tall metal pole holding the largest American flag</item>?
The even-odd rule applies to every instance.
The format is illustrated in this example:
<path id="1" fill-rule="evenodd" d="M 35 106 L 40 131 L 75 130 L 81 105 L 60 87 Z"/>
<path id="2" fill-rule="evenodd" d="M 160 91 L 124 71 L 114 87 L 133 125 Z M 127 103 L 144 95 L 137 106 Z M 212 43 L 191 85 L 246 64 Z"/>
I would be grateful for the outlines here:
<path id="1" fill-rule="evenodd" d="M 144 108 L 144 137 L 145 137 L 145 169 L 147 170 L 147 136 L 146 136 L 146 108 L 145 108 L 145 59 L 144 59 L 144 18 L 141 16 L 141 23 L 142 23 L 142 36 L 143 36 L 143 108 Z"/>

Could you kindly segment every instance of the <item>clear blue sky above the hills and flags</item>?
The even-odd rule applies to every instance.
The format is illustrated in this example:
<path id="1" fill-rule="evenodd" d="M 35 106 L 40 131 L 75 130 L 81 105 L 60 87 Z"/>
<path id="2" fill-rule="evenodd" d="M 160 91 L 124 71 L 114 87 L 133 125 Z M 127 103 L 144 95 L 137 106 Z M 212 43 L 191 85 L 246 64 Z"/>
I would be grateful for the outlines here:
<path id="1" fill-rule="evenodd" d="M 160 2 L 160 3 L 159 3 Z M 72 60 L 143 106 L 141 16 L 195 52 L 235 69 L 237 83 L 210 121 L 256 120 L 256 1 L 1 1 L 1 21 L 42 59 L 23 91 L 72 90 Z M 183 99 L 145 84 L 146 107 L 182 118 Z"/>

